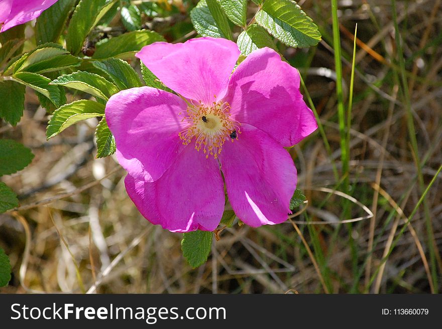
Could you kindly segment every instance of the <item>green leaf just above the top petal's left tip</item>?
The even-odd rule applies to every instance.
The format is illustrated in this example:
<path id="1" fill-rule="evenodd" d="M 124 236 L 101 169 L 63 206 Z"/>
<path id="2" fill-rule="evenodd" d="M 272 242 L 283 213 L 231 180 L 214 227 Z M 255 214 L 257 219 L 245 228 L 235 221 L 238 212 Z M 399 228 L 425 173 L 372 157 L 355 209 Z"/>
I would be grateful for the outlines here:
<path id="1" fill-rule="evenodd" d="M 148 30 L 133 31 L 118 37 L 104 39 L 95 45 L 92 58 L 130 58 L 146 45 L 166 41 L 162 35 Z"/>

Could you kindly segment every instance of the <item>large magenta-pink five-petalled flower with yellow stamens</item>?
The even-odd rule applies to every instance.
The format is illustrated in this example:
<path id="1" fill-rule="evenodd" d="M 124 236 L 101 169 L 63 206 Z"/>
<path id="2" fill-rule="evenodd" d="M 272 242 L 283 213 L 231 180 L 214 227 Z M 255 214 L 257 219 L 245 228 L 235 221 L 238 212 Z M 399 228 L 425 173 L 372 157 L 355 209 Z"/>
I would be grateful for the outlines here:
<path id="1" fill-rule="evenodd" d="M 225 208 L 224 182 L 244 223 L 287 219 L 296 168 L 284 147 L 311 134 L 316 121 L 296 69 L 263 48 L 232 73 L 239 55 L 226 39 L 153 43 L 137 57 L 178 95 L 140 87 L 107 102 L 126 189 L 151 223 L 213 231 Z"/>

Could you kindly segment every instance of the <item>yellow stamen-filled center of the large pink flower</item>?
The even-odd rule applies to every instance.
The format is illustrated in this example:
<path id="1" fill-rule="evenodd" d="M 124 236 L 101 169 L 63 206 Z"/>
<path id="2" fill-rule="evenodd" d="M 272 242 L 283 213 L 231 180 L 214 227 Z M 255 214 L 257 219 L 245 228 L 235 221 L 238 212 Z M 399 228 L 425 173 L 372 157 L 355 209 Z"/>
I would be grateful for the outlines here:
<path id="1" fill-rule="evenodd" d="M 187 106 L 183 122 L 190 127 L 178 134 L 184 145 L 195 140 L 195 150 L 202 151 L 206 159 L 209 155 L 215 159 L 221 153 L 224 143 L 231 139 L 233 142 L 241 134 L 241 124 L 230 119 L 228 102 L 214 101 L 211 105 L 203 105 L 191 100 Z M 194 139 L 195 138 L 195 139 Z"/>

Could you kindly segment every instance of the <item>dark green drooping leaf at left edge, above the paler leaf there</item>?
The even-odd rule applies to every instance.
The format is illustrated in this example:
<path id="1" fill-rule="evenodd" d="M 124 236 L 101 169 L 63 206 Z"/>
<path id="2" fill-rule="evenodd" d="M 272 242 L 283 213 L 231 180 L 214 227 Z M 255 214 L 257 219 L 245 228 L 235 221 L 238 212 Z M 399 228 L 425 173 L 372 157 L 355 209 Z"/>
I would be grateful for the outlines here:
<path id="1" fill-rule="evenodd" d="M 25 86 L 12 80 L 0 82 L 0 118 L 15 126 L 25 109 Z"/>

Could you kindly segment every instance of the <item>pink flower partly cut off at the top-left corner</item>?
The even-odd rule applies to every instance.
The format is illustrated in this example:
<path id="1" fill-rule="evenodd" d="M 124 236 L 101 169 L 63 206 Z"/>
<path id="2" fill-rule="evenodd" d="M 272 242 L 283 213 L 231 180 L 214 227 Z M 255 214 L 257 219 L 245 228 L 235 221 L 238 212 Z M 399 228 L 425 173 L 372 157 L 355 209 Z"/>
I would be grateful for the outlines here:
<path id="1" fill-rule="evenodd" d="M 57 0 L 0 0 L 0 32 L 33 19 L 55 4 Z"/>

